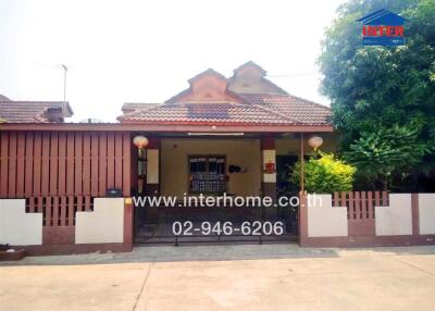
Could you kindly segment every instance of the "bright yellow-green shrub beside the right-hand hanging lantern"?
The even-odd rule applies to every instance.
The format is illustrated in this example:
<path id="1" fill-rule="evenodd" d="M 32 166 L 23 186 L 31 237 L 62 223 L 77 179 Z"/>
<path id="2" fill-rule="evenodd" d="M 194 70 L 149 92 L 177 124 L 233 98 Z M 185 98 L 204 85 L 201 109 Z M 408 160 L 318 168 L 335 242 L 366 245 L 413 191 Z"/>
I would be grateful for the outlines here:
<path id="1" fill-rule="evenodd" d="M 350 191 L 357 169 L 336 159 L 333 153 L 322 153 L 306 161 L 303 165 L 304 188 L 308 192 L 331 194 Z M 300 160 L 290 173 L 294 184 L 300 183 Z"/>

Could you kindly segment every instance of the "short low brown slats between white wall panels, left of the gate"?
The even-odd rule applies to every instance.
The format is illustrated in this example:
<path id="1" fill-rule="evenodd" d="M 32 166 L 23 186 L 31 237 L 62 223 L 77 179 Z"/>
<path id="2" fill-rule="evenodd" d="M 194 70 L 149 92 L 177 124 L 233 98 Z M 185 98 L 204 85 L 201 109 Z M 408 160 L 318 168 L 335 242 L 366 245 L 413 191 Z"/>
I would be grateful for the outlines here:
<path id="1" fill-rule="evenodd" d="M 76 212 L 92 211 L 90 196 L 30 197 L 26 199 L 26 212 L 42 213 L 45 227 L 75 226 Z"/>

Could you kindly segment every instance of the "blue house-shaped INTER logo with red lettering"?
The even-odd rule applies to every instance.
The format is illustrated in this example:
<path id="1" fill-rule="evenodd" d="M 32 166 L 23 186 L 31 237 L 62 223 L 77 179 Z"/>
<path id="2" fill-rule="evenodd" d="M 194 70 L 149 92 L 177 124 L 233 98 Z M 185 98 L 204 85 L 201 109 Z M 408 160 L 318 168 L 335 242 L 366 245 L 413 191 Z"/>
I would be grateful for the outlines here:
<path id="1" fill-rule="evenodd" d="M 358 20 L 362 22 L 363 46 L 403 46 L 403 24 L 407 18 L 388 10 L 380 10 Z"/>

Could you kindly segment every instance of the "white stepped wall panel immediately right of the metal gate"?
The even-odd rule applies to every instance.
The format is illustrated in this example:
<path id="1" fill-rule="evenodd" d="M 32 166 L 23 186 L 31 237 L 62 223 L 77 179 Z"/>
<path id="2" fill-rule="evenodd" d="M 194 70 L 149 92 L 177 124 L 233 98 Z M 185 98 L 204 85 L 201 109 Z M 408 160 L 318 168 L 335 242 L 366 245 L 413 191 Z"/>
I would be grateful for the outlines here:
<path id="1" fill-rule="evenodd" d="M 347 209 L 333 208 L 331 195 L 308 195 L 308 236 L 347 236 Z"/>

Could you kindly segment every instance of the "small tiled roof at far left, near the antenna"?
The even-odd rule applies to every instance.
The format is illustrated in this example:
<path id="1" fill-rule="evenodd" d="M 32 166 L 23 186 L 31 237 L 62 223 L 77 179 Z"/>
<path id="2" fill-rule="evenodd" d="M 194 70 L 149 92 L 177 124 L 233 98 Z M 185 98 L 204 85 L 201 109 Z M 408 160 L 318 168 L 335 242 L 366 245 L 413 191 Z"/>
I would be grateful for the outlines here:
<path id="1" fill-rule="evenodd" d="M 3 123 L 63 122 L 73 115 L 64 101 L 14 101 L 0 100 L 0 120 Z"/>

